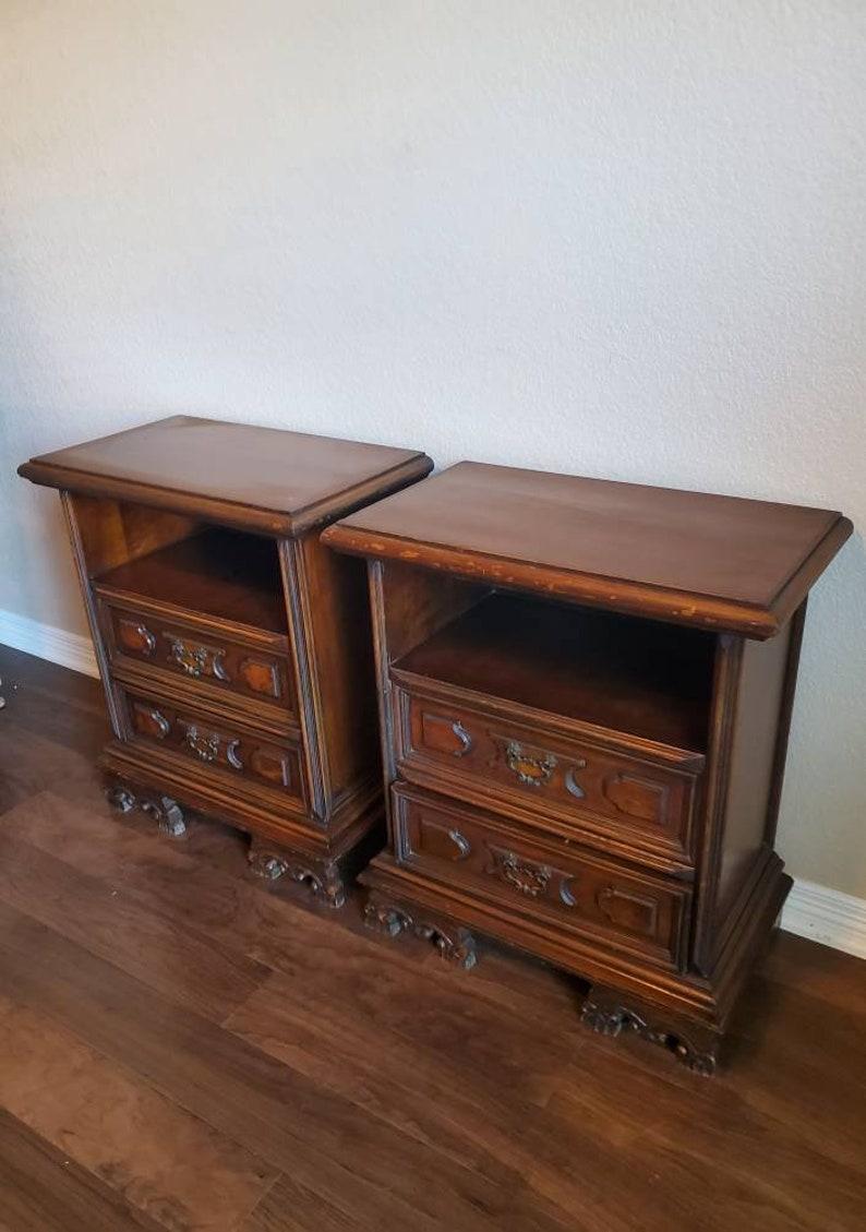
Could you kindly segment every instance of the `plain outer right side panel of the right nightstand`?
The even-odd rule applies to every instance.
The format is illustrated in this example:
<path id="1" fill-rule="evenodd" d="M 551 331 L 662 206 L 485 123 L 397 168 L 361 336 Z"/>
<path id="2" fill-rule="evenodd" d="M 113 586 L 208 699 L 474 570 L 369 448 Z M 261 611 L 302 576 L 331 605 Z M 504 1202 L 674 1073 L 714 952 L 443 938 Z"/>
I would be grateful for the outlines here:
<path id="1" fill-rule="evenodd" d="M 718 862 L 717 923 L 735 904 L 767 840 L 790 639 L 788 625 L 769 642 L 749 641 L 743 647 Z"/>

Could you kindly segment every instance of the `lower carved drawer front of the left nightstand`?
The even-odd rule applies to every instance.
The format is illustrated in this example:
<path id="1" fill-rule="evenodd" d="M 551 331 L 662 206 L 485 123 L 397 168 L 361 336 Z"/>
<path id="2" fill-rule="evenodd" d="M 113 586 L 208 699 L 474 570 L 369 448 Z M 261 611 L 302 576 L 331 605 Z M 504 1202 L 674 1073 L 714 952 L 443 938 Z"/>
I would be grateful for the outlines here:
<path id="1" fill-rule="evenodd" d="M 124 692 L 124 700 L 132 739 L 190 758 L 206 774 L 221 771 L 303 800 L 301 758 L 292 745 L 152 697 Z"/>

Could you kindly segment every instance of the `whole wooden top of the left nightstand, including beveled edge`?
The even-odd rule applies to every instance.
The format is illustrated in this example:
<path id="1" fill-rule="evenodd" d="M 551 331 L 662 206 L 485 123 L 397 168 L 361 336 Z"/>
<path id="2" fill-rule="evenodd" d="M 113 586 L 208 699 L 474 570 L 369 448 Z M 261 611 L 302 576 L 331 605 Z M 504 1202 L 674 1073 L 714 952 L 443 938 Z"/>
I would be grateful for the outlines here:
<path id="1" fill-rule="evenodd" d="M 414 450 L 175 415 L 32 458 L 34 483 L 296 535 L 426 474 Z"/>

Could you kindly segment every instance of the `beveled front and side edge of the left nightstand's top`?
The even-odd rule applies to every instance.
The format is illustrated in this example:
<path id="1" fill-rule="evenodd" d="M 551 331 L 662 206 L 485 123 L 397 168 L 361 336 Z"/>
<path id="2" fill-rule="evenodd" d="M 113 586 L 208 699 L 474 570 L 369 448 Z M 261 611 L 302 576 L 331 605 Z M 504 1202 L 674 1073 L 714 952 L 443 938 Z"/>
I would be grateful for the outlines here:
<path id="1" fill-rule="evenodd" d="M 427 476 L 432 467 L 432 458 L 427 457 L 426 453 L 410 455 L 370 479 L 329 494 L 293 514 L 262 509 L 257 505 L 224 498 L 204 496 L 176 488 L 140 483 L 134 479 L 117 479 L 92 471 L 78 471 L 73 467 L 44 462 L 38 457 L 22 462 L 17 473 L 23 479 L 30 479 L 31 483 L 46 488 L 76 492 L 85 496 L 108 496 L 148 505 L 152 509 L 170 509 L 175 513 L 198 515 L 209 522 L 229 526 L 234 530 L 254 531 L 281 538 L 297 538 L 315 526 L 328 525 L 336 517 L 355 513 L 377 496 L 393 495 L 415 479 Z"/>

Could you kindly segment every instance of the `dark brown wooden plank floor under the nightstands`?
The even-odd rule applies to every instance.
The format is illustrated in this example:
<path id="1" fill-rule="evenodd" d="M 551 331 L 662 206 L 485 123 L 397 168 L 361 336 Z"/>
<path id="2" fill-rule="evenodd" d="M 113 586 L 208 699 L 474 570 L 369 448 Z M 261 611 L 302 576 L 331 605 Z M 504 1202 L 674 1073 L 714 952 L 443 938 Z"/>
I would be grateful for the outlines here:
<path id="1" fill-rule="evenodd" d="M 95 681 L 0 648 L 0 1228 L 854 1232 L 866 965 L 780 934 L 711 1080 L 102 801 Z"/>

